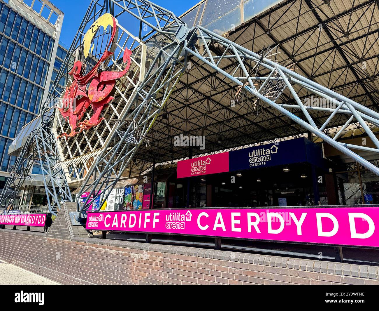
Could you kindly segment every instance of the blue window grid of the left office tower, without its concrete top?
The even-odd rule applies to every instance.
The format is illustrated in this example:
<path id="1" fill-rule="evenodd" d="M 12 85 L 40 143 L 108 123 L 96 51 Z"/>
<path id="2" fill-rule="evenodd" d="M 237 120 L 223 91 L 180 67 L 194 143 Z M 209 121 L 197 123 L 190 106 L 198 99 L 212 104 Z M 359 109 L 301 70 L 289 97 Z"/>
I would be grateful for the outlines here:
<path id="1" fill-rule="evenodd" d="M 38 116 L 52 58 L 54 39 L 0 2 L 0 170 L 16 157 L 9 145 Z"/>

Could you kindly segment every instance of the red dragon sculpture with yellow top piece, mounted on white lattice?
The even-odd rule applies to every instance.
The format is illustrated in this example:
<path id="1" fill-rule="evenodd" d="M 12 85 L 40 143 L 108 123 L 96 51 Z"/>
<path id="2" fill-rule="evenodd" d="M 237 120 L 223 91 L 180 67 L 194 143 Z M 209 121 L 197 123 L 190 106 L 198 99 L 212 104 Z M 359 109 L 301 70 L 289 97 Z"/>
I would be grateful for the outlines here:
<path id="1" fill-rule="evenodd" d="M 106 13 L 99 17 L 94 24 L 89 28 L 86 33 L 83 44 L 83 53 L 85 57 L 89 55 L 89 49 L 91 46 L 92 38 L 97 32 L 99 27 L 103 27 L 104 30 L 108 26 L 112 27 L 112 34 L 106 50 L 100 57 L 97 64 L 89 71 L 89 73 L 82 76 L 82 63 L 80 60 L 77 60 L 74 63 L 74 67 L 69 72 L 69 75 L 73 77 L 74 81 L 69 87 L 66 87 L 66 92 L 63 96 L 63 108 L 58 108 L 64 119 L 69 122 L 71 132 L 70 134 L 63 133 L 57 138 L 61 137 L 73 137 L 76 134 L 80 133 L 83 129 L 88 130 L 93 126 L 98 125 L 103 117 L 100 118 L 100 114 L 106 105 L 114 99 L 113 96 L 110 96 L 116 80 L 123 77 L 129 70 L 131 65 L 132 51 L 125 48 L 123 55 L 123 62 L 126 63 L 124 70 L 122 71 L 100 71 L 100 64 L 105 62 L 108 57 L 113 55 L 113 52 L 110 52 L 110 46 L 113 43 L 114 37 L 117 33 L 117 24 L 116 19 L 109 13 Z M 93 47 L 92 47 L 93 49 Z M 75 103 L 75 107 L 74 107 Z M 94 114 L 89 120 L 82 120 L 86 111 L 89 107 L 92 106 Z M 79 128 L 79 131 L 77 129 Z"/>

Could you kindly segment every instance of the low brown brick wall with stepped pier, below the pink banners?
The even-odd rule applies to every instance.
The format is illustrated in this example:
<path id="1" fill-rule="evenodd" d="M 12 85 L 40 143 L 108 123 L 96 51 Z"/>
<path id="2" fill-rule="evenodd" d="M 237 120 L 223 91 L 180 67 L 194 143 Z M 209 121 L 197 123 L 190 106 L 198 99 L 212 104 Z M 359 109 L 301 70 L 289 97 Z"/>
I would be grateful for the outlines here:
<path id="1" fill-rule="evenodd" d="M 68 211 L 47 234 L 0 229 L 0 259 L 63 284 L 379 284 L 367 265 L 60 234 Z"/>

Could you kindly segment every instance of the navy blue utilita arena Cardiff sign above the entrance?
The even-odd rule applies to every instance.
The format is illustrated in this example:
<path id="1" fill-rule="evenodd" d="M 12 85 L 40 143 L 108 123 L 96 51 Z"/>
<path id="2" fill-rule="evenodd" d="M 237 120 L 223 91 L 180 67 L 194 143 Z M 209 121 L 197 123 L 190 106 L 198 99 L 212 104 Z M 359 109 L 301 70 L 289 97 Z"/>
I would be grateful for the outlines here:
<path id="1" fill-rule="evenodd" d="M 229 152 L 230 171 L 299 162 L 322 166 L 321 148 L 305 138 L 298 138 Z"/>

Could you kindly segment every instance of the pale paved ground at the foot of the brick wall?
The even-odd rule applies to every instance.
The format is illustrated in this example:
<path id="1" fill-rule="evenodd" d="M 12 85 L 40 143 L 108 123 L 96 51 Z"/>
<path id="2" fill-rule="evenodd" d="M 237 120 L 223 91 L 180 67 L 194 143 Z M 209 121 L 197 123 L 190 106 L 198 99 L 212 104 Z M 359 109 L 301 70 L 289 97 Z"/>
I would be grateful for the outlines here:
<path id="1" fill-rule="evenodd" d="M 44 276 L 30 272 L 16 265 L 0 260 L 0 284 L 11 285 L 58 285 Z"/>

